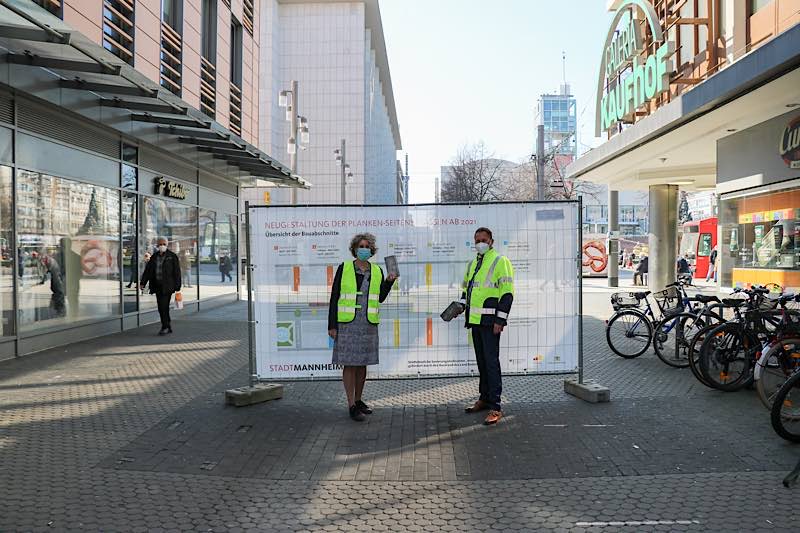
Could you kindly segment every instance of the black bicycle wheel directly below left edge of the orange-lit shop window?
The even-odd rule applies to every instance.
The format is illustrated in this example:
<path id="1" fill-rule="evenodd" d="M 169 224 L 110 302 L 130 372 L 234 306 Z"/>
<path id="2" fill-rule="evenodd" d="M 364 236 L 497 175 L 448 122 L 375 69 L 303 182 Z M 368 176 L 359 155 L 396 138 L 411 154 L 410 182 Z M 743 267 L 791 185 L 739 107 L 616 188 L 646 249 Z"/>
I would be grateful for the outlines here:
<path id="1" fill-rule="evenodd" d="M 758 340 L 737 322 L 709 332 L 700 347 L 700 372 L 715 389 L 733 392 L 753 381 L 753 357 Z"/>

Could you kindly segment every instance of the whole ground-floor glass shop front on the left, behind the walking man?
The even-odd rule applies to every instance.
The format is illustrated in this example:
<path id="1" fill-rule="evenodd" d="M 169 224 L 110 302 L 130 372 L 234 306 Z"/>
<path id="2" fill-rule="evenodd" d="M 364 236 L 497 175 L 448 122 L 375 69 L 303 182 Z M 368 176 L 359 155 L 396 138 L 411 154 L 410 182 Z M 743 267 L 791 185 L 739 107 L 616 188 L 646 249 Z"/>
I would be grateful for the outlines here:
<path id="1" fill-rule="evenodd" d="M 139 279 L 158 237 L 185 302 L 238 292 L 237 216 L 140 194 L 138 168 L 119 168 L 103 187 L 0 165 L 0 337 L 155 310 Z"/>

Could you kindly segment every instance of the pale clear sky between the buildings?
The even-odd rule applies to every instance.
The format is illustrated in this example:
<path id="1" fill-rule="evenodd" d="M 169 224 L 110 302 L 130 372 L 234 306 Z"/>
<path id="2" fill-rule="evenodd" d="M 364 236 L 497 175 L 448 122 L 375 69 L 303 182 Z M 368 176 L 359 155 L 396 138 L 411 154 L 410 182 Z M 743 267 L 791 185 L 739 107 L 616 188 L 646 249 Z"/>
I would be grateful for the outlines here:
<path id="1" fill-rule="evenodd" d="M 611 22 L 606 0 L 380 0 L 410 201 L 434 199 L 439 168 L 483 141 L 521 161 L 536 146 L 539 95 L 566 77 L 579 152 L 597 146 L 595 92 Z"/>

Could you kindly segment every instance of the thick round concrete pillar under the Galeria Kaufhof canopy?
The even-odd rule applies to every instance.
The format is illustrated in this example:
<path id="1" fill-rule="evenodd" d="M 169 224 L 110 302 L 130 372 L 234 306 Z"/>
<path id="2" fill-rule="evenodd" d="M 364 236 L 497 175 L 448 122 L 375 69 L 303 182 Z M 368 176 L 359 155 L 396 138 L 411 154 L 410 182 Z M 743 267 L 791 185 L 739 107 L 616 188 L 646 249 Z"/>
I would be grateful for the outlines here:
<path id="1" fill-rule="evenodd" d="M 650 187 L 648 278 L 651 291 L 675 281 L 678 258 L 678 186 Z"/>

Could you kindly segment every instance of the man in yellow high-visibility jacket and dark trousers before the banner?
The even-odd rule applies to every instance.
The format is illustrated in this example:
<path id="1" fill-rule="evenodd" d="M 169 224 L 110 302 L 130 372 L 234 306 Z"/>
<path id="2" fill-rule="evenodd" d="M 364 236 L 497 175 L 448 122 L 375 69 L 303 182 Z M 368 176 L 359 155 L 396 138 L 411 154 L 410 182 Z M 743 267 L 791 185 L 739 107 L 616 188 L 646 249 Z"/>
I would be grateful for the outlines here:
<path id="1" fill-rule="evenodd" d="M 503 418 L 500 396 L 503 378 L 500 369 L 500 334 L 506 327 L 514 301 L 514 268 L 507 257 L 493 248 L 488 228 L 475 232 L 477 256 L 467 267 L 461 303 L 466 312 L 466 327 L 472 333 L 475 360 L 480 373 L 480 397 L 465 409 L 468 413 L 489 410 L 484 424 Z"/>

